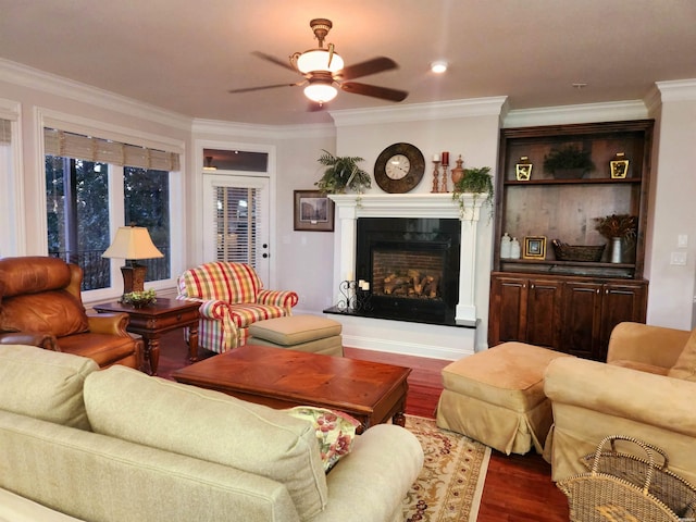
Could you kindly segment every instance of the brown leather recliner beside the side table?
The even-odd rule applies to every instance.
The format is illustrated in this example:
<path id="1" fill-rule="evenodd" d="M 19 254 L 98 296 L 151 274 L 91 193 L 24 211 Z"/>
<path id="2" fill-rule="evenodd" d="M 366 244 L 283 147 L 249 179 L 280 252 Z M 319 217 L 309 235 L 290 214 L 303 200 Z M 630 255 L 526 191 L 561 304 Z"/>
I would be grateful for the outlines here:
<path id="1" fill-rule="evenodd" d="M 87 315 L 83 270 L 48 257 L 0 259 L 0 344 L 34 345 L 94 359 L 101 368 L 140 369 L 142 340 L 127 313 Z"/>

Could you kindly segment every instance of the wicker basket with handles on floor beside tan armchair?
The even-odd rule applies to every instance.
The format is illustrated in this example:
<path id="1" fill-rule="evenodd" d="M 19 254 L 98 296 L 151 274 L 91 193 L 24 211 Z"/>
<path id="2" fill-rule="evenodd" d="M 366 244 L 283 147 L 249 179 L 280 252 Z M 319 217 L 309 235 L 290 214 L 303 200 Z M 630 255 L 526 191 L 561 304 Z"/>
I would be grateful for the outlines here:
<path id="1" fill-rule="evenodd" d="M 648 456 L 642 459 L 616 450 L 616 440 L 636 444 Z M 604 451 L 611 443 L 611 450 Z M 657 465 L 655 452 L 663 462 Z M 680 522 L 696 515 L 696 488 L 667 469 L 667 455 L 632 437 L 606 437 L 594 455 L 584 458 L 589 473 L 557 483 L 568 497 L 571 522 L 650 521 Z"/>

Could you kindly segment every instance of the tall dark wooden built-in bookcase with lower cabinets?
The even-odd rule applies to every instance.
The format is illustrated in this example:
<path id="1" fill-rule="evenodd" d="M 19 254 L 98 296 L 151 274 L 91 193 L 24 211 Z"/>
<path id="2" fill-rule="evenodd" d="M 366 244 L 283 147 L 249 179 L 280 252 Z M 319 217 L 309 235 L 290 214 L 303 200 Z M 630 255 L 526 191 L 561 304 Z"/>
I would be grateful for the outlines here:
<path id="1" fill-rule="evenodd" d="M 642 277 L 651 138 L 651 120 L 500 132 L 489 345 L 520 340 L 604 360 L 616 324 L 645 322 L 648 282 Z M 596 169 L 571 178 L 544 172 L 544 158 L 569 145 L 588 151 Z M 611 174 L 618 153 L 629 160 L 625 177 Z M 521 163 L 532 165 L 529 178 L 518 175 Z M 619 262 L 611 262 L 610 241 L 595 229 L 596 219 L 610 214 L 630 214 L 637 222 L 635 238 L 623 243 Z M 500 256 L 505 233 L 520 241 L 521 259 Z M 606 247 L 598 260 L 561 260 L 554 239 Z"/>

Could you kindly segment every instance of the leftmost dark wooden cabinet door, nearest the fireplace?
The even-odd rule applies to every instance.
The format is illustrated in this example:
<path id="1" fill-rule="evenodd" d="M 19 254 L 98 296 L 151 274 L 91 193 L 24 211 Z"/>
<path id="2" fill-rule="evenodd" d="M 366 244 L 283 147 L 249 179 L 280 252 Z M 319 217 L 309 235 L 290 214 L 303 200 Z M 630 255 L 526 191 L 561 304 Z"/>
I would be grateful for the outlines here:
<path id="1" fill-rule="evenodd" d="M 490 278 L 488 344 L 524 340 L 526 335 L 526 277 L 496 276 Z"/>

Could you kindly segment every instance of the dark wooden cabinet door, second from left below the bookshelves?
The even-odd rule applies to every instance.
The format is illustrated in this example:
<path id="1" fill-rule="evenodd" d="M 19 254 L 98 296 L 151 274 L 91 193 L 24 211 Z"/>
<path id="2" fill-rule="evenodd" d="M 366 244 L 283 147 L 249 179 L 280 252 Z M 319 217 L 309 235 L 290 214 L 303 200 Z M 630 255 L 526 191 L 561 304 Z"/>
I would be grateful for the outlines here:
<path id="1" fill-rule="evenodd" d="M 525 343 L 558 348 L 561 289 L 562 283 L 558 279 L 531 278 L 529 281 Z"/>

